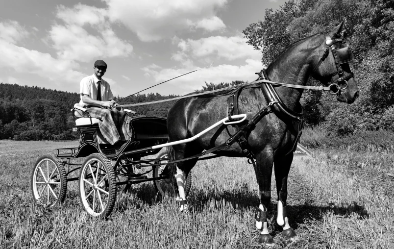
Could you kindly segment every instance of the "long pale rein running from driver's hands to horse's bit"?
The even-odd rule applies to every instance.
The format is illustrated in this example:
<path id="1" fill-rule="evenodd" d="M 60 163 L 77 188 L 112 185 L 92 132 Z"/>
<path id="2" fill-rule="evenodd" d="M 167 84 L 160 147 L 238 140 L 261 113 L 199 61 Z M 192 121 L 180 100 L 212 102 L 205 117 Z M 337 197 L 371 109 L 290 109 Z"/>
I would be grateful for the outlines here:
<path id="1" fill-rule="evenodd" d="M 206 91 L 206 92 L 196 93 L 196 94 L 184 95 L 184 96 L 175 97 L 175 98 L 167 99 L 167 100 L 156 100 L 156 101 L 135 103 L 135 104 L 121 104 L 121 105 L 117 105 L 116 107 L 140 106 L 140 105 L 168 102 L 168 101 L 173 101 L 173 100 L 181 100 L 181 99 L 186 99 L 186 98 L 191 98 L 191 97 L 196 97 L 196 96 L 201 96 L 201 95 L 207 95 L 207 94 L 213 94 L 213 93 L 217 93 L 217 92 L 222 92 L 222 91 L 225 91 L 225 90 L 237 89 L 239 87 L 250 86 L 250 85 L 254 85 L 256 83 L 270 83 L 270 84 L 276 85 L 276 86 L 283 86 L 283 87 L 304 89 L 304 90 L 315 90 L 315 91 L 322 91 L 322 92 L 327 91 L 327 92 L 330 92 L 330 94 L 332 94 L 332 95 L 336 95 L 336 94 L 339 93 L 340 90 L 343 90 L 343 89 L 340 89 L 340 88 L 339 88 L 340 90 L 338 90 L 337 92 L 334 92 L 334 91 L 331 90 L 332 86 L 338 86 L 338 84 L 331 84 L 328 87 L 323 87 L 323 86 L 299 86 L 299 85 L 292 85 L 292 84 L 286 84 L 286 83 L 273 82 L 273 81 L 270 81 L 270 80 L 260 79 L 259 78 L 259 80 L 255 80 L 255 81 L 248 82 L 248 83 L 243 83 L 242 85 L 228 86 L 228 87 L 224 87 L 224 88 L 220 88 L 220 89 L 216 89 L 216 90 L 211 90 L 211 91 Z"/>

